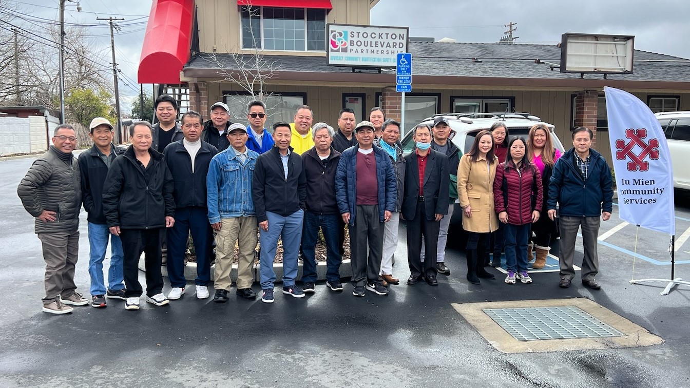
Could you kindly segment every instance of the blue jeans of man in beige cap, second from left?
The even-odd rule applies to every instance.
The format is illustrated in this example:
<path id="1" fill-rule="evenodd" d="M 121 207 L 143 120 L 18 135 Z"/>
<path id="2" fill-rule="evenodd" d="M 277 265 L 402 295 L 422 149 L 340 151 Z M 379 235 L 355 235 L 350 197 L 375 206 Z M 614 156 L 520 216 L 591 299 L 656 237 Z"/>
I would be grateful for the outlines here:
<path id="1" fill-rule="evenodd" d="M 110 238 L 110 269 L 108 269 L 108 289 L 117 291 L 125 288 L 122 272 L 122 242 L 120 237 L 111 235 L 108 225 L 88 223 L 88 244 L 90 248 L 88 274 L 91 277 L 91 295 L 105 295 L 103 282 L 103 259 L 106 258 Z"/>

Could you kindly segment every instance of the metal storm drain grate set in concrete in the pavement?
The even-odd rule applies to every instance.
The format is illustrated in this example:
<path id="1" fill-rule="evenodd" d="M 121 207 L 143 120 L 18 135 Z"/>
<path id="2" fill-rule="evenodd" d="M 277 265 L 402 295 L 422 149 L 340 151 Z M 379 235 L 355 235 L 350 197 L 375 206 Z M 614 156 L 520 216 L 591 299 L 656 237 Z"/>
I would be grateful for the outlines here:
<path id="1" fill-rule="evenodd" d="M 518 341 L 625 336 L 575 306 L 482 311 Z"/>

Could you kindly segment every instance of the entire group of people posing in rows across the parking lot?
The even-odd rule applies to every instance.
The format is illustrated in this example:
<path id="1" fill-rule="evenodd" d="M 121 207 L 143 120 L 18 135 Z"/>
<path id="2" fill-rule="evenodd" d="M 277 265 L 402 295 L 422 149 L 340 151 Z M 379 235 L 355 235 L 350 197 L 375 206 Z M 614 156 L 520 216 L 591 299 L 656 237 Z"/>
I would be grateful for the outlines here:
<path id="1" fill-rule="evenodd" d="M 393 276 L 393 255 L 401 219 L 407 224 L 411 273 L 407 284 L 424 281 L 435 286 L 437 273 L 450 273 L 444 257 L 456 199 L 469 232 L 468 280 L 479 283 L 478 278 L 493 278 L 484 269 L 493 233 L 499 252 L 505 241 L 506 282 L 511 275 L 512 282 L 515 276 L 529 282 L 527 236 L 535 233 L 538 261 L 543 260 L 555 233 L 551 212 L 555 213 L 555 202 L 561 202 L 562 240 L 565 230 L 576 233 L 580 224 L 583 235 L 586 227 L 598 229 L 590 220 L 595 206 L 577 204 L 576 197 L 581 201 L 585 194 L 593 195 L 595 185 L 589 182 L 601 181 L 604 220 L 610 215 L 611 196 L 607 202 L 600 168 L 606 162 L 589 147 L 584 149 L 582 133 L 591 139 L 586 128 L 573 133 L 573 144 L 577 139 L 584 145 L 575 144 L 575 151 L 564 154 L 572 162 L 564 165 L 555 162 L 560 153 L 553 150 L 546 127 L 532 128 L 528 142 L 519 137 L 507 142 L 506 128 L 497 123 L 491 132 L 479 133 L 471 151 L 462 155 L 449 139 L 449 122 L 437 117 L 432 126 L 415 126 L 415 149 L 404 154 L 401 124 L 385 119 L 381 108 L 373 108 L 369 120 L 359 124 L 353 110 L 344 108 L 334 130 L 324 122 L 313 124 L 313 110 L 299 106 L 293 123 L 276 122 L 270 133 L 262 101 L 250 101 L 246 111 L 248 125 L 230 122 L 228 106 L 219 101 L 211 106 L 207 122 L 200 113 L 188 110 L 178 123 L 175 99 L 161 95 L 155 101 L 158 123 L 141 121 L 130 126 L 131 146 L 126 149 L 112 143 L 113 126 L 107 119 L 93 119 L 89 128 L 93 146 L 78 159 L 72 154 L 77 147 L 74 128 L 58 126 L 49 151 L 36 159 L 18 188 L 23 206 L 36 219 L 35 231 L 46 261 L 43 311 L 69 313 L 72 306 L 87 304 L 106 307 L 108 299 L 125 300 L 128 310 L 139 309 L 144 293 L 138 279 L 142 253 L 146 302 L 162 306 L 181 298 L 186 292 L 184 266 L 190 235 L 199 299 L 210 297 L 210 268 L 215 262 L 213 300 L 228 300 L 236 250 L 236 293 L 257 298 L 252 269 L 258 244 L 261 299 L 274 302 L 273 263 L 279 240 L 282 293 L 294 298 L 314 293 L 319 229 L 326 245 L 329 289 L 344 289 L 339 267 L 347 229 L 353 295 L 362 297 L 365 291 L 386 295 L 388 284 L 400 283 Z M 501 153 L 507 160 L 499 166 L 496 155 Z M 610 187 L 610 172 L 608 179 Z M 573 182 L 580 191 L 571 187 Z M 544 200 L 546 187 L 548 201 Z M 82 205 L 88 214 L 90 299 L 77 292 L 74 281 Z M 564 220 L 564 215 L 572 220 Z M 574 234 L 565 241 L 574 245 Z M 103 260 L 109 242 L 106 286 Z M 595 284 L 596 244 L 587 244 L 589 266 L 583 265 L 583 281 Z M 572 269 L 572 252 L 564 253 L 563 245 L 562 263 L 567 264 L 569 258 Z M 296 284 L 300 255 L 304 262 L 301 287 Z M 161 265 L 168 270 L 171 289 L 167 295 Z M 562 287 L 569 286 L 573 276 L 562 264 Z"/>

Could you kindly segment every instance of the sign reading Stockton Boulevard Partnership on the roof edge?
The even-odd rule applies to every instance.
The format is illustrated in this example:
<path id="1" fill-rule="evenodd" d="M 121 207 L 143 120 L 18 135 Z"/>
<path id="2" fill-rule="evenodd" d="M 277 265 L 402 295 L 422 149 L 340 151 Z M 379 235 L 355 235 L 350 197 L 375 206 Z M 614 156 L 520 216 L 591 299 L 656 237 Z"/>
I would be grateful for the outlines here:
<path id="1" fill-rule="evenodd" d="M 326 58 L 333 66 L 395 68 L 407 52 L 407 27 L 328 24 Z"/>

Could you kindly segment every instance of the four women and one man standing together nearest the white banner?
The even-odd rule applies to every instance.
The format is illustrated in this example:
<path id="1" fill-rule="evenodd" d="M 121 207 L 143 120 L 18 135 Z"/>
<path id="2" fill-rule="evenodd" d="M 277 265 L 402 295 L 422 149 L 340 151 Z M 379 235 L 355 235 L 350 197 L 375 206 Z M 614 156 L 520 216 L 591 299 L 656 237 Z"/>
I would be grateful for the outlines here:
<path id="1" fill-rule="evenodd" d="M 551 242 L 560 235 L 559 286 L 568 288 L 575 277 L 575 238 L 582 227 L 582 283 L 600 289 L 595 280 L 597 236 L 600 217 L 604 221 L 611 217 L 613 179 L 606 159 L 591 149 L 592 131 L 575 128 L 572 138 L 573 148 L 561 154 L 544 124 L 533 126 L 527 139 L 509 137 L 502 122 L 477 133 L 471 150 L 460 158 L 457 173 L 462 226 L 469 233 L 469 282 L 495 278 L 484 266 L 500 266 L 505 251 L 505 282 L 531 283 L 528 265 L 533 250 L 532 268 L 544 268 Z"/>

